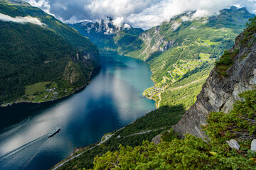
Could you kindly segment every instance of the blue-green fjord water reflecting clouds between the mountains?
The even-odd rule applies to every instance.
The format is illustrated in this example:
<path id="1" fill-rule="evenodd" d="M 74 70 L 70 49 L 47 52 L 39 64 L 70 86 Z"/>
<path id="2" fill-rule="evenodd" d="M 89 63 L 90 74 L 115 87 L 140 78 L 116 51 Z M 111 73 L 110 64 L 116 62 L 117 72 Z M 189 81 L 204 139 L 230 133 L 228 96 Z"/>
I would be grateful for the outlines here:
<path id="1" fill-rule="evenodd" d="M 75 147 L 100 141 L 155 109 L 142 96 L 154 86 L 149 66 L 131 57 L 104 56 L 82 91 L 60 101 L 0 108 L 0 169 L 49 169 Z M 53 137 L 48 132 L 60 127 Z"/>

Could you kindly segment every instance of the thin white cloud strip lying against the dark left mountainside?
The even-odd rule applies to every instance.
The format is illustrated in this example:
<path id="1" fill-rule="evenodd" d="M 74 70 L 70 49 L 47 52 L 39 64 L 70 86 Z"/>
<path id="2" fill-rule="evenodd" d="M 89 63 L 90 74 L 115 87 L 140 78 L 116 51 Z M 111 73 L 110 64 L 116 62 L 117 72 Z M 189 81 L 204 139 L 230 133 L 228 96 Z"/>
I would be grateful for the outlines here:
<path id="1" fill-rule="evenodd" d="M 3 13 L 0 13 L 0 20 L 7 21 L 7 22 L 11 21 L 14 23 L 33 23 L 38 26 L 45 26 L 45 24 L 41 23 L 41 21 L 38 18 L 33 18 L 32 16 L 25 16 L 25 17 L 16 16 L 14 18 L 11 16 L 4 15 Z"/>

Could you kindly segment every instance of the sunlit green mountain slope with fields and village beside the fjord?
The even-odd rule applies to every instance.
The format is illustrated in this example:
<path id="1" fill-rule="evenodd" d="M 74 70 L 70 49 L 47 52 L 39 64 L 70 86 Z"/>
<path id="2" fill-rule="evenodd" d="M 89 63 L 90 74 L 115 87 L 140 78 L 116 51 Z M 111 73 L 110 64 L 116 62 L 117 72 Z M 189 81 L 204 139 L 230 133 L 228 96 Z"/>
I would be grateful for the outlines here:
<path id="1" fill-rule="evenodd" d="M 158 107 L 183 104 L 189 108 L 215 60 L 232 47 L 248 18 L 253 17 L 246 8 L 235 6 L 212 17 L 194 18 L 193 13 L 144 31 L 139 35 L 141 49 L 124 54 L 149 63 L 156 86 L 144 91 L 144 96 L 154 99 Z"/>

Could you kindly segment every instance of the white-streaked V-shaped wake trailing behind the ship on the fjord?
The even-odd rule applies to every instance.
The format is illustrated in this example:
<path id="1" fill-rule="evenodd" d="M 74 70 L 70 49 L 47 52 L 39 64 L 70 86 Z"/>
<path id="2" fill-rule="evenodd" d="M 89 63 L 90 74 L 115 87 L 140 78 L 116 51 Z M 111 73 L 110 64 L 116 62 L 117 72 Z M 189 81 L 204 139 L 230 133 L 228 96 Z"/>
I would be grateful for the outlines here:
<path id="1" fill-rule="evenodd" d="M 1 156 L 0 169 L 21 169 L 23 164 L 26 164 L 26 162 L 38 152 L 39 147 L 48 140 L 47 135 L 48 134 L 38 137 L 36 140 L 32 140 Z"/>

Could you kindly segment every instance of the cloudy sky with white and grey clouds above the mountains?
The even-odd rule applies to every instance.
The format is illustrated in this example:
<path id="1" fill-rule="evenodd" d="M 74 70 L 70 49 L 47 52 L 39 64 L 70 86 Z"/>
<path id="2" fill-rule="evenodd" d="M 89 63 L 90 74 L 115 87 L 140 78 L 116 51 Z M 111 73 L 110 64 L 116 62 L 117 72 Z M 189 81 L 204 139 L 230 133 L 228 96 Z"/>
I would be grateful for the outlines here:
<path id="1" fill-rule="evenodd" d="M 229 6 L 246 7 L 256 13 L 256 0 L 25 0 L 60 21 L 77 23 L 107 16 L 118 26 L 151 28 L 186 11 L 195 16 L 212 16 Z"/>

